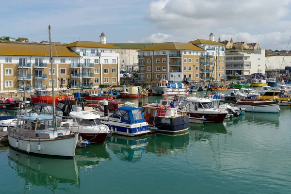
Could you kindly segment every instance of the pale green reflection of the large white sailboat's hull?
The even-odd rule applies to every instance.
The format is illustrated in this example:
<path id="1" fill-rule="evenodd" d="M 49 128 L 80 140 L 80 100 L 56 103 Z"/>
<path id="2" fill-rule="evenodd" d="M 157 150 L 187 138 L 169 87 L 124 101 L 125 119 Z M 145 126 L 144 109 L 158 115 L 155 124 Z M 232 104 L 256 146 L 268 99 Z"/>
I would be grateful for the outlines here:
<path id="1" fill-rule="evenodd" d="M 70 183 L 80 187 L 79 170 L 75 160 L 43 158 L 27 155 L 8 148 L 8 165 L 25 179 L 24 188 L 45 186 L 51 191 L 58 184 Z M 69 189 L 63 189 L 69 192 Z"/>

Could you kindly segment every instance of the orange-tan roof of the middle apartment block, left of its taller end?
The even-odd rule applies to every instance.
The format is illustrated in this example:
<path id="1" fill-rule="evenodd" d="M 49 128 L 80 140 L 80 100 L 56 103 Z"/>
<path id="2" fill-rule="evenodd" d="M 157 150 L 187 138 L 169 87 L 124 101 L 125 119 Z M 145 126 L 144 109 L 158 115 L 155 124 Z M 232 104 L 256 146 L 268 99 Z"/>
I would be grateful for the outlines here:
<path id="1" fill-rule="evenodd" d="M 204 50 L 204 49 L 197 47 L 191 43 L 167 42 L 158 43 L 151 47 L 140 49 L 138 51 L 149 51 L 149 50 Z"/>

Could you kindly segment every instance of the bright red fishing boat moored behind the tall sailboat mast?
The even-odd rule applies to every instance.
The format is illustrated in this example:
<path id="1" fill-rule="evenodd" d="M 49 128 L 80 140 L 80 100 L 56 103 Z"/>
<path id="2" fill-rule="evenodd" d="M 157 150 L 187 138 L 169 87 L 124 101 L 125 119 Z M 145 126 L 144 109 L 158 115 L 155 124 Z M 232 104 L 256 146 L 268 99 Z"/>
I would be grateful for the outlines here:
<path id="1" fill-rule="evenodd" d="M 52 96 L 49 95 L 49 90 L 36 90 L 36 95 L 32 95 L 33 103 L 43 102 L 47 104 L 52 104 L 53 99 Z M 58 95 L 54 97 L 55 106 L 57 106 L 59 100 L 73 100 L 73 95 Z"/>

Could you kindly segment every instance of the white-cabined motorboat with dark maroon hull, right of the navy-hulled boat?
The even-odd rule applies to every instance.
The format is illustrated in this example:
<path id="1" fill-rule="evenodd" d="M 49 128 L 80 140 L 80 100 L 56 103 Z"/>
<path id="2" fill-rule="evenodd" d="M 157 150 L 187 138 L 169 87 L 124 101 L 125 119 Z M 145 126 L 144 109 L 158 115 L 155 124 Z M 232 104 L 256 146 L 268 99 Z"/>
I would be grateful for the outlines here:
<path id="1" fill-rule="evenodd" d="M 206 118 L 204 122 L 221 123 L 228 113 L 213 108 L 211 100 L 207 98 L 188 97 L 187 101 L 187 106 L 181 110 L 181 113 L 190 114 L 190 117 L 194 118 Z"/>

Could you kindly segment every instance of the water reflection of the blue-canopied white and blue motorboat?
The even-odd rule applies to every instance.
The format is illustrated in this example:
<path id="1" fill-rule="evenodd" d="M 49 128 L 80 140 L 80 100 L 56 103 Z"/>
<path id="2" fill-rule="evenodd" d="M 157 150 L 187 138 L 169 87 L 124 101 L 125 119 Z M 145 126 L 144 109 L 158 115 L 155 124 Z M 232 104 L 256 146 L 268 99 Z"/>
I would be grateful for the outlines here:
<path id="1" fill-rule="evenodd" d="M 107 137 L 105 143 L 109 149 L 122 161 L 137 162 L 141 160 L 149 138 L 111 136 Z"/>

